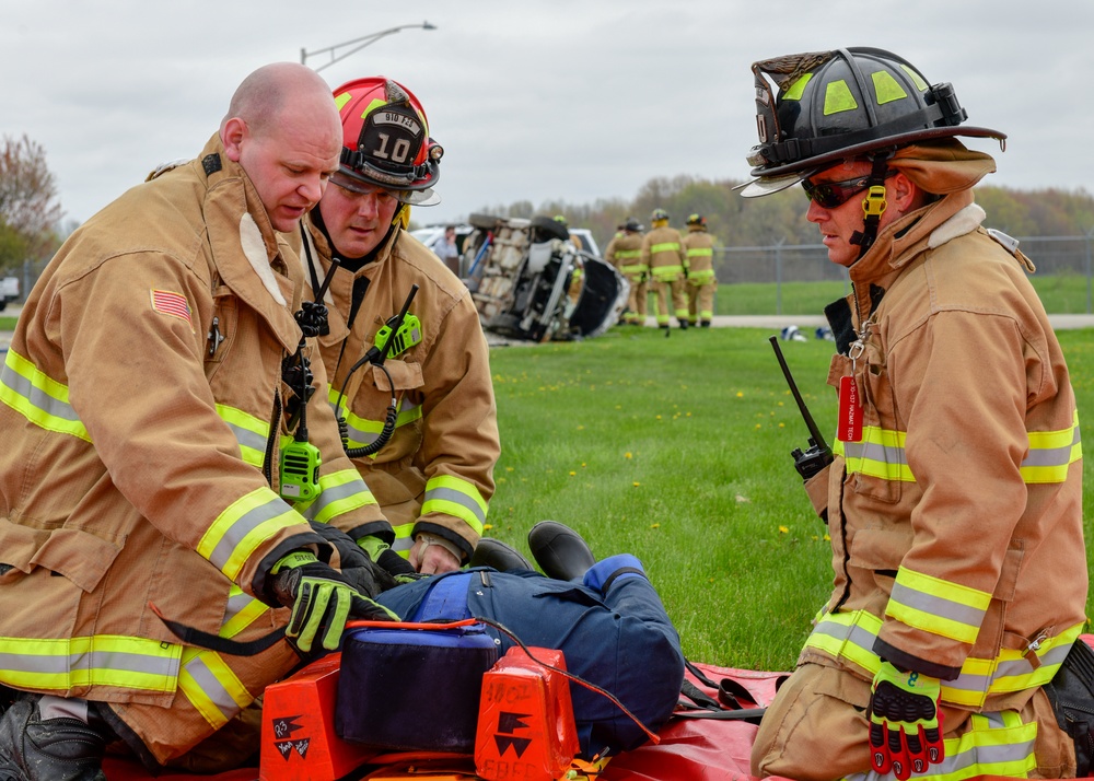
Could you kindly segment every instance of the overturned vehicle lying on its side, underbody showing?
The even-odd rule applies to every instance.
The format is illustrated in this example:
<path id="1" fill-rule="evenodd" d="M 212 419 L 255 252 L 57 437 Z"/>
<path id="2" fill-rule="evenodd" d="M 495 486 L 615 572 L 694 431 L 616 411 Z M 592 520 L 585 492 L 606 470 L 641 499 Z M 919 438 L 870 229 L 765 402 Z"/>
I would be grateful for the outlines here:
<path id="1" fill-rule="evenodd" d="M 619 320 L 629 283 L 596 254 L 587 232 L 549 217 L 472 214 L 468 222 L 464 281 L 486 330 L 565 341 L 597 336 Z"/>

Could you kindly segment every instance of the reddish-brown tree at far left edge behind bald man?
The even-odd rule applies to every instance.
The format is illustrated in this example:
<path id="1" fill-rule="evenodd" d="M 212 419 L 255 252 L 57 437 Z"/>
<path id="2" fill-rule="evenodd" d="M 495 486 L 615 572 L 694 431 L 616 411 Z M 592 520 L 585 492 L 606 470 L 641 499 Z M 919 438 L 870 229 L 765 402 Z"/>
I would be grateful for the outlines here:
<path id="1" fill-rule="evenodd" d="M 4 241 L 0 267 L 11 268 L 24 259 L 43 260 L 53 255 L 60 241 L 63 212 L 57 202 L 57 182 L 46 165 L 45 150 L 27 136 L 4 136 L 0 142 L 0 224 L 19 242 Z"/>

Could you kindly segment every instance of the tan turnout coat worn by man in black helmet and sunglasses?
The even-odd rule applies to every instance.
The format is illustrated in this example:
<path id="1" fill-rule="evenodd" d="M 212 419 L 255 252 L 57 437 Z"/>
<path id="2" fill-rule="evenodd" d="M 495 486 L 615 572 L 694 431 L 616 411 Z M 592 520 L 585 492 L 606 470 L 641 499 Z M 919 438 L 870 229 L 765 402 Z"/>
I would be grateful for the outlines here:
<path id="1" fill-rule="evenodd" d="M 806 486 L 836 578 L 801 661 L 869 681 L 885 658 L 1004 711 L 1059 669 L 1087 575 L 1068 368 L 1032 265 L 982 219 L 969 190 L 905 215 L 828 307 L 862 433 Z"/>

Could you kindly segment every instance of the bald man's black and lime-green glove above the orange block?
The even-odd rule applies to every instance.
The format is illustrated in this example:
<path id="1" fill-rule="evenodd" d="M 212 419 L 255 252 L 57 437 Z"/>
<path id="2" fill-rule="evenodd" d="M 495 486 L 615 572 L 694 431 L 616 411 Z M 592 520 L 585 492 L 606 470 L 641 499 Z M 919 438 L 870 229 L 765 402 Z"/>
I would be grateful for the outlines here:
<path id="1" fill-rule="evenodd" d="M 336 650 L 350 617 L 371 621 L 399 620 L 310 551 L 289 553 L 271 572 L 274 595 L 279 603 L 292 608 L 284 634 L 305 654 L 312 650 L 312 641 L 317 634 L 322 634 L 323 648 Z"/>

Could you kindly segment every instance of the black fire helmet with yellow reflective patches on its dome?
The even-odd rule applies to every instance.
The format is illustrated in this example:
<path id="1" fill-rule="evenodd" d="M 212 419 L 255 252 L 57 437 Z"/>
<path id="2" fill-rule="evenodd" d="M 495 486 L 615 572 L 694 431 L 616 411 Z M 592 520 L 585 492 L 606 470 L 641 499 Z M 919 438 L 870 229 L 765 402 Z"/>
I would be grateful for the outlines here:
<path id="1" fill-rule="evenodd" d="M 953 136 L 1005 135 L 958 127 L 967 119 L 948 83 L 930 85 L 907 60 L 852 47 L 753 65 L 759 143 L 748 154 L 756 182 L 742 195 L 777 193 L 840 160 Z M 776 92 L 778 89 L 778 92 Z"/>

